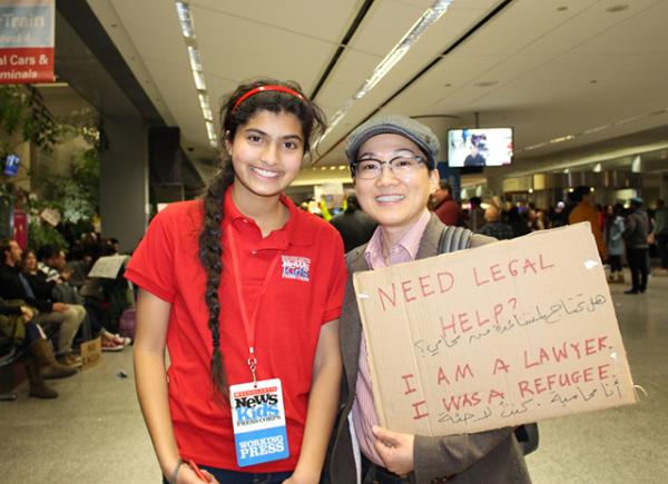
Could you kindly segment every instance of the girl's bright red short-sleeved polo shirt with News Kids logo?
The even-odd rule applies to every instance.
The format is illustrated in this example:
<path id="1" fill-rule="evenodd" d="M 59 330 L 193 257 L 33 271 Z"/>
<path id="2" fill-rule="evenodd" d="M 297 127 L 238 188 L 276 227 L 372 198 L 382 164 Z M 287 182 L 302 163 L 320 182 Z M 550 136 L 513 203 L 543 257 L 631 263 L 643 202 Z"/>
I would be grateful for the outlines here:
<path id="1" fill-rule="evenodd" d="M 249 382 L 248 344 L 225 235 L 234 230 L 248 314 L 261 304 L 255 332 L 257 378 L 283 382 L 289 443 L 286 460 L 237 467 L 229 405 L 218 405 L 212 397 L 213 344 L 204 300 L 206 275 L 198 258 L 202 201 L 171 204 L 160 211 L 128 265 L 128 279 L 171 304 L 167 330 L 169 408 L 184 458 L 254 473 L 292 471 L 297 464 L 321 326 L 341 314 L 346 269 L 338 233 L 296 208 L 287 197 L 281 201 L 289 209 L 289 220 L 263 238 L 255 221 L 238 211 L 230 190 L 225 194 L 224 269 L 218 296 L 220 348 L 228 383 Z M 275 256 L 278 263 L 258 300 Z"/>

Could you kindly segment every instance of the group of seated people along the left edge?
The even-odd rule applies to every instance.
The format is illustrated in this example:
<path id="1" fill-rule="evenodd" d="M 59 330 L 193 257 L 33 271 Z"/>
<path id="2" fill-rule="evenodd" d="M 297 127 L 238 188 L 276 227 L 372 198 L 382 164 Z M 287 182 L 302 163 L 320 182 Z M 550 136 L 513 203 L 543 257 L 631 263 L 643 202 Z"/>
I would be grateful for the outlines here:
<path id="1" fill-rule="evenodd" d="M 29 395 L 56 398 L 45 381 L 77 374 L 82 366 L 78 344 L 97 337 L 105 352 L 131 343 L 116 333 L 118 316 L 127 308 L 127 283 L 88 278 L 100 256 L 115 255 L 118 240 L 86 234 L 66 250 L 45 245 L 22 249 L 2 240 L 0 260 L 0 342 L 24 354 Z M 97 287 L 99 290 L 91 290 Z M 118 304 L 119 299 L 125 299 Z"/>

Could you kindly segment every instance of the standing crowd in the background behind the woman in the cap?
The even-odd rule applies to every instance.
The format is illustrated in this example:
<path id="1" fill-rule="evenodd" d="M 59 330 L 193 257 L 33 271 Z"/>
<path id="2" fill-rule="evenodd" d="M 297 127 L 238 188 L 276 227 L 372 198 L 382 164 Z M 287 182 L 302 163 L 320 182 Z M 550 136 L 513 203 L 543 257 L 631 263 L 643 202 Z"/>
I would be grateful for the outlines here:
<path id="1" fill-rule="evenodd" d="M 640 197 L 628 200 L 627 207 L 621 203 L 595 204 L 593 191 L 586 186 L 576 187 L 568 195 L 566 201 L 550 208 L 540 208 L 533 203 L 502 201 L 499 197 L 485 204 L 480 197 L 471 197 L 462 207 L 454 199 L 452 187 L 441 181 L 429 206 L 443 224 L 468 227 L 498 240 L 589 221 L 601 260 L 608 266 L 609 283 L 626 284 L 622 271 L 626 258 L 631 273 L 631 287 L 626 294 L 647 290 L 652 250 L 660 259 L 660 267 L 654 274 L 668 275 L 668 208 L 662 199 L 657 199 L 656 208 L 649 210 Z M 348 200 L 345 213 L 331 220 L 341 233 L 346 251 L 369 241 L 375 228 L 374 221 L 361 211 L 355 196 Z"/>

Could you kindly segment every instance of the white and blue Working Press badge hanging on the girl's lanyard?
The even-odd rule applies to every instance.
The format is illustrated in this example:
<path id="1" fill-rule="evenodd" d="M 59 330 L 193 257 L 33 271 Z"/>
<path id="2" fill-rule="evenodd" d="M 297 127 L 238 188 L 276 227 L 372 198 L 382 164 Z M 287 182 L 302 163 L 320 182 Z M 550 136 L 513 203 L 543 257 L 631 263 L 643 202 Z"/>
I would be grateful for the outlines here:
<path id="1" fill-rule="evenodd" d="M 239 467 L 289 456 L 281 379 L 232 385 L 229 405 Z"/>

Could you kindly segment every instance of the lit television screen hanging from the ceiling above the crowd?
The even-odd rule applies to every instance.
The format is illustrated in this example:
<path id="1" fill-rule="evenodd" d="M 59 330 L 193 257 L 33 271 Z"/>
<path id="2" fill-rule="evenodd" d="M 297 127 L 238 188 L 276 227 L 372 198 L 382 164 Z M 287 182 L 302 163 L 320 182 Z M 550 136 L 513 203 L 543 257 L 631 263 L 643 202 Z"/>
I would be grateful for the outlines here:
<path id="1" fill-rule="evenodd" d="M 448 131 L 448 166 L 497 167 L 512 160 L 512 128 Z"/>

